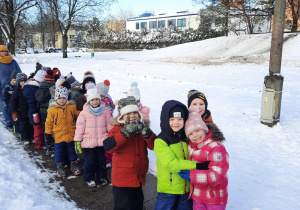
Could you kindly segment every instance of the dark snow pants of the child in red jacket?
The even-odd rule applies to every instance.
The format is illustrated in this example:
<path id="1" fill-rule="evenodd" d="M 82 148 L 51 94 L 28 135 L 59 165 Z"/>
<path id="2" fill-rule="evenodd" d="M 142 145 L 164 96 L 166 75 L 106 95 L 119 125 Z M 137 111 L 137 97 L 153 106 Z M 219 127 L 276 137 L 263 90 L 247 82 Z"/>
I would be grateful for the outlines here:
<path id="1" fill-rule="evenodd" d="M 114 210 L 142 210 L 144 193 L 140 187 L 112 187 Z"/>

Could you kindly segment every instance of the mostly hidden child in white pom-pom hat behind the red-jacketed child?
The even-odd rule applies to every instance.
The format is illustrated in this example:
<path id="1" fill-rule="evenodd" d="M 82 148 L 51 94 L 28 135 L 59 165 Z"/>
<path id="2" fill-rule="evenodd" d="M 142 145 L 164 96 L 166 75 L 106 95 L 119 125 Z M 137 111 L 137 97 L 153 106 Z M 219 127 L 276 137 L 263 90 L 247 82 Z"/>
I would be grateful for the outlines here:
<path id="1" fill-rule="evenodd" d="M 137 86 L 137 82 L 132 82 L 131 88 L 126 92 L 126 97 L 135 98 L 136 102 L 138 103 L 139 110 L 143 115 L 144 123 L 150 127 L 150 108 L 142 105 L 140 90 Z"/>

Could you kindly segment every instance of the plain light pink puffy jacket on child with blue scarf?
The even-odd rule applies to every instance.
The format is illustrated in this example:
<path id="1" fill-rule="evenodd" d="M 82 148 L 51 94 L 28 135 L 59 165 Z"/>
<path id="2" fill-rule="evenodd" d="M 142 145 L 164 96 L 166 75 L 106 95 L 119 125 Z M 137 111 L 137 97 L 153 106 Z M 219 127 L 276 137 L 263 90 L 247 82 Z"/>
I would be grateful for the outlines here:
<path id="1" fill-rule="evenodd" d="M 81 148 L 101 147 L 113 127 L 109 123 L 112 117 L 105 106 L 103 112 L 96 116 L 87 105 L 85 103 L 77 118 L 74 141 L 82 141 Z"/>

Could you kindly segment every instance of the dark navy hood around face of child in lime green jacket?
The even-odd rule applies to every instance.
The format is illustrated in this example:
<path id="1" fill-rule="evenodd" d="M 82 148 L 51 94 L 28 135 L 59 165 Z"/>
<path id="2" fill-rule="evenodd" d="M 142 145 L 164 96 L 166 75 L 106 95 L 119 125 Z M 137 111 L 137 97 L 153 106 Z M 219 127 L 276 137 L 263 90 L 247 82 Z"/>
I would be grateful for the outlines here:
<path id="1" fill-rule="evenodd" d="M 172 108 L 176 107 L 176 106 L 179 106 L 179 107 L 182 107 L 184 112 L 185 112 L 185 118 L 183 119 L 184 120 L 184 124 L 189 116 L 189 111 L 188 109 L 186 108 L 186 106 L 179 102 L 179 101 L 175 101 L 175 100 L 169 100 L 167 102 L 164 103 L 163 107 L 162 107 L 162 110 L 161 110 L 161 114 L 160 114 L 160 128 L 162 130 L 162 132 L 164 132 L 165 134 L 169 135 L 169 136 L 174 136 L 174 135 L 178 135 L 180 134 L 180 139 L 182 138 L 186 138 L 185 137 L 185 132 L 184 132 L 184 127 L 174 133 L 174 131 L 172 130 L 172 128 L 170 127 L 170 123 L 169 123 L 169 114 L 170 114 L 170 111 Z"/>

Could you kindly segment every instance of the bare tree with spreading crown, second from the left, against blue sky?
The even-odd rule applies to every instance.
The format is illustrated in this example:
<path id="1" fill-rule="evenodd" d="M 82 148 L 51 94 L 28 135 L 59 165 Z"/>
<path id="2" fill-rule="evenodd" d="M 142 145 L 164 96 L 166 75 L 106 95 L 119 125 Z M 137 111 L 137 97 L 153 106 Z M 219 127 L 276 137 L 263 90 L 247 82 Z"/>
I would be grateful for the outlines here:
<path id="1" fill-rule="evenodd" d="M 68 31 L 74 21 L 101 14 L 115 0 L 45 0 L 53 10 L 63 38 L 63 58 L 67 58 Z"/>

